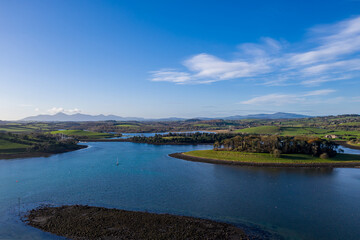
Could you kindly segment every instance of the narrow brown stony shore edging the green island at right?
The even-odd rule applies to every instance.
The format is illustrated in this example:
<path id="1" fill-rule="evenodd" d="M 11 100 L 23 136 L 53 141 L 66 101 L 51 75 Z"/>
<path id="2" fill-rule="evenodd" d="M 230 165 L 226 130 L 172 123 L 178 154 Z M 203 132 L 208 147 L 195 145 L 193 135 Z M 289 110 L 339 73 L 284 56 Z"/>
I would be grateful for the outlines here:
<path id="1" fill-rule="evenodd" d="M 220 160 L 211 158 L 201 158 L 185 155 L 184 153 L 171 153 L 170 157 L 191 162 L 204 162 L 223 165 L 236 165 L 248 167 L 286 167 L 286 168 L 360 168 L 359 163 L 257 163 L 257 162 L 238 162 L 230 160 Z"/>

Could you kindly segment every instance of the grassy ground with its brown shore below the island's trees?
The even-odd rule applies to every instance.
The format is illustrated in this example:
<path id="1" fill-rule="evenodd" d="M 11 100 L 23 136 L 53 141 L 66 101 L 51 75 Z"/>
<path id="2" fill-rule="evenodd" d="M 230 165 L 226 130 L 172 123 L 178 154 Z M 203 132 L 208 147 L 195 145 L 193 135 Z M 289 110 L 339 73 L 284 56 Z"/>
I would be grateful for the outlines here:
<path id="1" fill-rule="evenodd" d="M 360 167 L 360 155 L 338 154 L 335 158 L 320 159 L 305 154 L 283 154 L 272 157 L 268 153 L 198 150 L 173 153 L 169 156 L 196 162 L 268 167 Z"/>

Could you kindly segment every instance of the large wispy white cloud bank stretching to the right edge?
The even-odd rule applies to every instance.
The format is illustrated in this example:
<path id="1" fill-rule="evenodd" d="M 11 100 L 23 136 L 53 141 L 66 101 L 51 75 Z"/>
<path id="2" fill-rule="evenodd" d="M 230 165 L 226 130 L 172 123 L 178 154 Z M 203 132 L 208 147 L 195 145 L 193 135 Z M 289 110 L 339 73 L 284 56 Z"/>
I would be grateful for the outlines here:
<path id="1" fill-rule="evenodd" d="M 238 46 L 233 59 L 209 53 L 182 62 L 184 70 L 151 72 L 152 81 L 201 84 L 230 79 L 254 80 L 266 85 L 321 85 L 345 80 L 360 72 L 360 16 L 309 30 L 305 41 L 294 44 L 272 38 Z"/>

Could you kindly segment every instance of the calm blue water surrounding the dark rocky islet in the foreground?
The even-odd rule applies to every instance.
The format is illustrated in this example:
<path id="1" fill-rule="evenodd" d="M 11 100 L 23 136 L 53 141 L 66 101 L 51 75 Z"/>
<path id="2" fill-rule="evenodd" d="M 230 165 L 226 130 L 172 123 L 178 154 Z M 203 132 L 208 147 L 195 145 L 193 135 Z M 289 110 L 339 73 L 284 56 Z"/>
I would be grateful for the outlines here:
<path id="1" fill-rule="evenodd" d="M 0 160 L 0 239 L 61 239 L 23 224 L 19 198 L 22 213 L 78 203 L 245 224 L 284 239 L 359 239 L 360 169 L 235 167 L 167 156 L 210 148 L 204 145 L 88 145 Z"/>

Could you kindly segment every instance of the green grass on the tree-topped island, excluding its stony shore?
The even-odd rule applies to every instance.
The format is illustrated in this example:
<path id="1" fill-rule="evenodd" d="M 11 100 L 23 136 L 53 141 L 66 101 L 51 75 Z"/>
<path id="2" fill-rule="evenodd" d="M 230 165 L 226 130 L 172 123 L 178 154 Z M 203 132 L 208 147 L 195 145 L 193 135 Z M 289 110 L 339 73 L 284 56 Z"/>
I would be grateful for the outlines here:
<path id="1" fill-rule="evenodd" d="M 184 155 L 208 159 L 254 163 L 360 163 L 360 155 L 353 154 L 338 154 L 336 157 L 330 159 L 321 159 L 306 154 L 282 154 L 280 158 L 276 158 L 268 153 L 198 150 L 186 152 Z"/>

